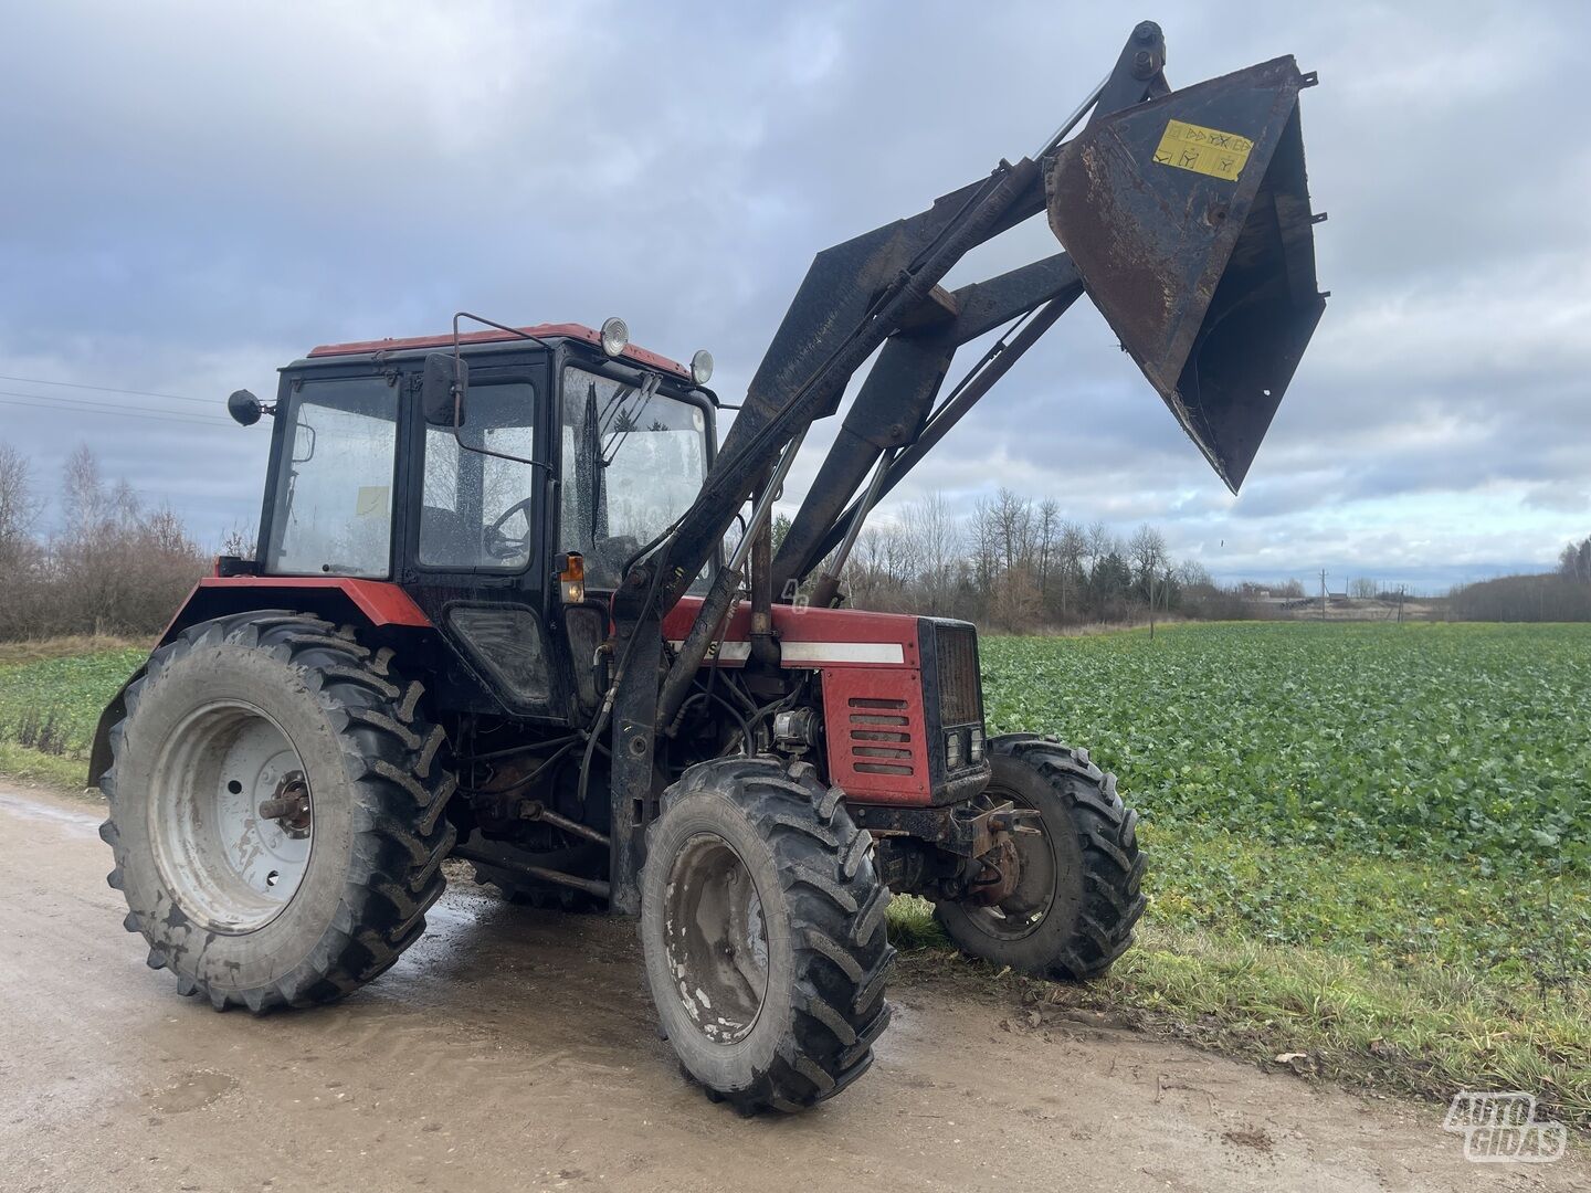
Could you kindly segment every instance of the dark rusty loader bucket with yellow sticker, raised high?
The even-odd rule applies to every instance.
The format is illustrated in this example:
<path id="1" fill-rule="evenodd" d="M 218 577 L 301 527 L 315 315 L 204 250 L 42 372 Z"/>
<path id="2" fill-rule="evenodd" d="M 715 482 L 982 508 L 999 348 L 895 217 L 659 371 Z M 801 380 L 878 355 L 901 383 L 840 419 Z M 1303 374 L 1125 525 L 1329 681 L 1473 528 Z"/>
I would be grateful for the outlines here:
<path id="1" fill-rule="evenodd" d="M 1279 57 L 1096 118 L 1047 178 L 1088 296 L 1233 493 L 1325 310 L 1298 130 L 1313 83 Z"/>

